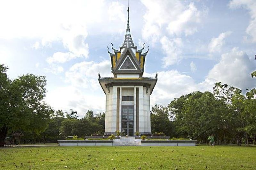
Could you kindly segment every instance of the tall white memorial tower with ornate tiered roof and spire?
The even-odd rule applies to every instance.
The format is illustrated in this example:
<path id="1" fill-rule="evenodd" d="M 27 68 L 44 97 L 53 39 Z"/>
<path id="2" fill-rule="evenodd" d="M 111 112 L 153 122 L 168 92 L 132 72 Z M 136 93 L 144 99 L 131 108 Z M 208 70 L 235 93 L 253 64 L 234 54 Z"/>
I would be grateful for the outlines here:
<path id="1" fill-rule="evenodd" d="M 99 82 L 106 94 L 105 135 L 120 130 L 123 136 L 151 134 L 150 126 L 150 94 L 157 81 L 155 78 L 142 77 L 146 52 L 137 50 L 132 42 L 129 26 L 128 7 L 127 29 L 124 43 L 119 50 L 113 48 L 109 52 L 114 77 L 101 78 Z"/>

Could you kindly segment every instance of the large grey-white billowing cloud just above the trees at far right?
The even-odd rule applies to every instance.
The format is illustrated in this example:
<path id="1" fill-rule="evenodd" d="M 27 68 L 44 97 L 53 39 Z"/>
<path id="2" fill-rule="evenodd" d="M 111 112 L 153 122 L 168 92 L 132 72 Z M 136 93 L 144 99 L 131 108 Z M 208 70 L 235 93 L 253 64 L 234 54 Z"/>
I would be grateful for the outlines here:
<path id="1" fill-rule="evenodd" d="M 250 76 L 254 69 L 255 64 L 249 60 L 248 55 L 238 48 L 233 48 L 230 52 L 221 55 L 220 62 L 209 71 L 205 82 L 207 84 L 222 82 L 242 90 L 249 89 L 255 87 L 255 80 Z"/>

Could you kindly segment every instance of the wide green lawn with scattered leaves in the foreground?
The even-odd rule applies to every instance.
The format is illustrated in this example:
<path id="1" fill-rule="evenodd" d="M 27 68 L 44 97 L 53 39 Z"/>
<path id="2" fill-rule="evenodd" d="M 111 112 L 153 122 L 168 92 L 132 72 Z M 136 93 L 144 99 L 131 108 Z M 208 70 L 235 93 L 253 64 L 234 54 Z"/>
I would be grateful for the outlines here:
<path id="1" fill-rule="evenodd" d="M 0 148 L 0 169 L 255 169 L 256 147 Z"/>

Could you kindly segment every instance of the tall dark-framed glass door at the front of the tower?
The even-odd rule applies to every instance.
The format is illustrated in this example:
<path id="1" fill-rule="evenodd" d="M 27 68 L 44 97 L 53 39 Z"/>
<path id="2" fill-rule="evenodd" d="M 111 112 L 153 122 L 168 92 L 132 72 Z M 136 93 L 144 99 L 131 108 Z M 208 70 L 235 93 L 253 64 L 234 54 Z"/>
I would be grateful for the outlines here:
<path id="1" fill-rule="evenodd" d="M 134 134 L 134 106 L 122 106 L 122 135 Z"/>

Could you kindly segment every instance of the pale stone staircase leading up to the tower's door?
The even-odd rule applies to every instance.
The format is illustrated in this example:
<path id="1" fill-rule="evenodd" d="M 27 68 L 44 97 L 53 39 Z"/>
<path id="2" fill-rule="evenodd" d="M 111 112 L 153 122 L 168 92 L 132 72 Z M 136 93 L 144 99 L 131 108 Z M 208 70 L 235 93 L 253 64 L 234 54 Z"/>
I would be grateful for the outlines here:
<path id="1" fill-rule="evenodd" d="M 120 137 L 120 139 L 114 139 L 114 146 L 141 146 L 141 139 L 135 139 L 135 137 Z"/>

